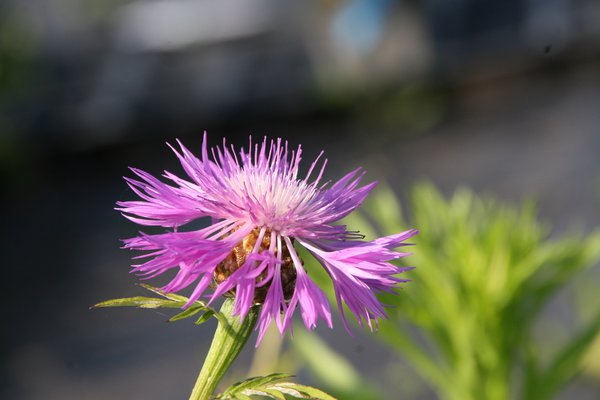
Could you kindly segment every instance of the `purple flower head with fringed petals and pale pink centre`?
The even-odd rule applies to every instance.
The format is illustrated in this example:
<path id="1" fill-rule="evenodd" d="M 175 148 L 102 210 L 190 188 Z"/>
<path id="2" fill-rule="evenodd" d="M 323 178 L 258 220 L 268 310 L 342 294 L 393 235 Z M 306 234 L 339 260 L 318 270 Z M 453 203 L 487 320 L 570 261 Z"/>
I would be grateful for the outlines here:
<path id="1" fill-rule="evenodd" d="M 210 301 L 235 293 L 234 313 L 242 318 L 250 307 L 262 303 L 257 329 L 262 340 L 274 319 L 283 334 L 300 306 L 308 329 L 320 318 L 329 327 L 331 312 L 325 293 L 304 269 L 294 243 L 305 247 L 325 268 L 335 290 L 337 305 L 348 329 L 342 304 L 373 329 L 372 321 L 386 318 L 375 296 L 393 291 L 404 280 L 390 261 L 409 253 L 395 251 L 417 231 L 386 236 L 372 242 L 360 239 L 344 225 L 333 225 L 354 211 L 376 182 L 359 186 L 364 175 L 356 169 L 339 181 L 321 184 L 327 164 L 322 156 L 311 164 L 306 177 L 298 177 L 302 149 L 290 151 L 281 139 L 250 144 L 238 153 L 223 141 L 210 150 L 206 134 L 200 158 L 178 142 L 172 148 L 189 179 L 170 172 L 169 184 L 132 168 L 139 179 L 125 178 L 139 201 L 117 203 L 123 215 L 140 224 L 163 226 L 170 231 L 125 240 L 125 247 L 145 253 L 133 272 L 151 278 L 175 270 L 162 289 L 178 292 L 193 287 L 196 301 L 210 287 Z M 314 179 L 311 177 L 314 176 Z M 196 231 L 180 231 L 190 221 L 210 217 L 212 224 Z"/>

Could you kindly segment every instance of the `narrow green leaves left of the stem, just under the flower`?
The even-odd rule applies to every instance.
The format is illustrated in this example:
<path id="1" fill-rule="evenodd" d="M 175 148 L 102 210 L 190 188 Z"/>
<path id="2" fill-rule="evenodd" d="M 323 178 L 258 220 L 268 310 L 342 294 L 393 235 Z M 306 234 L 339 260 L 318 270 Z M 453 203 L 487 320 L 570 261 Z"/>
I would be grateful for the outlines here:
<path id="1" fill-rule="evenodd" d="M 101 303 L 98 303 L 92 308 L 104 308 L 104 307 L 138 307 L 138 308 L 183 308 L 185 304 L 188 302 L 188 298 L 185 296 L 181 296 L 174 293 L 165 293 L 160 289 L 152 287 L 150 285 L 141 284 L 141 287 L 147 289 L 153 293 L 156 293 L 162 298 L 159 297 L 144 297 L 144 296 L 135 296 L 135 297 L 126 297 L 122 299 L 112 299 L 106 300 Z M 219 321 L 223 322 L 223 315 L 209 307 L 203 301 L 197 300 L 192 303 L 188 308 L 183 310 L 182 312 L 175 314 L 171 318 L 169 318 L 169 322 L 179 321 L 181 319 L 186 319 L 189 317 L 193 317 L 199 313 L 200 317 L 196 320 L 195 324 L 200 325 L 210 319 L 210 317 L 215 317 Z"/>

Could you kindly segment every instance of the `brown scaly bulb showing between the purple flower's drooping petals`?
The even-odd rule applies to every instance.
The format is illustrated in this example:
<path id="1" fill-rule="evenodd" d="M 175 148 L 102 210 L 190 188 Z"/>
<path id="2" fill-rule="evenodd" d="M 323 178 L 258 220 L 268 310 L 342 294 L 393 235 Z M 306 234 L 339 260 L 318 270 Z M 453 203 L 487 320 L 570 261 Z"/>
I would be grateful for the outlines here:
<path id="1" fill-rule="evenodd" d="M 238 243 L 231 253 L 227 255 L 227 257 L 223 260 L 223 262 L 219 263 L 215 268 L 213 273 L 213 280 L 216 285 L 221 284 L 227 278 L 231 276 L 235 271 L 237 271 L 244 262 L 246 261 L 246 257 L 248 254 L 252 253 L 254 250 L 254 246 L 256 245 L 256 241 L 258 240 L 260 228 L 255 228 L 252 232 L 250 232 L 240 243 Z M 292 239 L 293 240 L 293 239 Z M 258 253 L 262 253 L 263 251 L 268 251 L 271 246 L 271 230 L 267 229 L 262 243 L 259 245 Z M 281 249 L 278 249 L 275 246 L 274 255 L 277 257 L 277 252 L 281 250 L 281 286 L 283 288 L 283 296 L 286 300 L 291 299 L 292 294 L 294 293 L 294 289 L 296 287 L 296 268 L 294 267 L 294 263 L 292 261 L 292 257 L 290 256 L 290 251 L 287 248 L 285 242 L 282 242 Z M 267 276 L 269 275 L 268 267 L 256 278 L 256 284 L 259 285 Z M 263 303 L 265 297 L 267 296 L 267 292 L 269 291 L 269 287 L 271 286 L 271 282 L 264 284 L 262 286 L 257 286 L 254 290 L 254 302 L 255 303 Z M 235 289 L 232 289 L 228 292 L 230 295 L 235 295 Z"/>

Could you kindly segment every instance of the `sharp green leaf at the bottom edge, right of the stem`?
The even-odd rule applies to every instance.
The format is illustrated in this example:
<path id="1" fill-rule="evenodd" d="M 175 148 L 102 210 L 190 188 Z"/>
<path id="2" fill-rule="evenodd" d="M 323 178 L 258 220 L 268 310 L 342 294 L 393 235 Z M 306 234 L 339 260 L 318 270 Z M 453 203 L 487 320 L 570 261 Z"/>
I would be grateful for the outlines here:
<path id="1" fill-rule="evenodd" d="M 271 374 L 258 376 L 231 385 L 216 400 L 249 400 L 249 399 L 315 399 L 335 400 L 327 393 L 310 386 L 285 382 L 291 378 L 288 374 Z"/>

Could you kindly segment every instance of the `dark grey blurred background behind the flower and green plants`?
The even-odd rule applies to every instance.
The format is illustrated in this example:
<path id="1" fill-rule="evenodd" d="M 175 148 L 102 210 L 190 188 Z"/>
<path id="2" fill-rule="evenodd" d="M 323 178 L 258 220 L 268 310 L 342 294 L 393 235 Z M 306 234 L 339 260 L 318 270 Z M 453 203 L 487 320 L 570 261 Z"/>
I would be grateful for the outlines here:
<path id="1" fill-rule="evenodd" d="M 134 197 L 128 166 L 181 173 L 166 141 L 283 137 L 307 160 L 325 150 L 330 179 L 363 166 L 401 199 L 421 179 L 534 198 L 557 235 L 588 232 L 599 68 L 593 0 L 2 1 L 0 397 L 188 395 L 214 322 L 88 309 L 143 293 L 119 249 L 138 227 L 113 207 Z M 600 289 L 597 268 L 586 280 Z M 336 322 L 319 334 L 387 398 L 435 398 L 369 332 Z M 584 373 L 561 398 L 599 392 Z"/>

